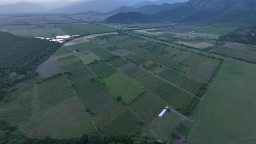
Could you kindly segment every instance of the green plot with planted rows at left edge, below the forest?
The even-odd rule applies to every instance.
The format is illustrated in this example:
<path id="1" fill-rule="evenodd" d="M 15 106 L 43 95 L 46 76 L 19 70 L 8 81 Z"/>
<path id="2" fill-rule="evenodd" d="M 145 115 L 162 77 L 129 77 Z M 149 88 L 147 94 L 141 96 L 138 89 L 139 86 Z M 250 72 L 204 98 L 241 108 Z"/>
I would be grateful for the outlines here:
<path id="1" fill-rule="evenodd" d="M 34 114 L 34 83 L 37 79 L 38 77 L 27 79 L 10 88 L 19 89 L 8 93 L 0 103 L 0 118 L 10 122 L 20 122 Z"/>

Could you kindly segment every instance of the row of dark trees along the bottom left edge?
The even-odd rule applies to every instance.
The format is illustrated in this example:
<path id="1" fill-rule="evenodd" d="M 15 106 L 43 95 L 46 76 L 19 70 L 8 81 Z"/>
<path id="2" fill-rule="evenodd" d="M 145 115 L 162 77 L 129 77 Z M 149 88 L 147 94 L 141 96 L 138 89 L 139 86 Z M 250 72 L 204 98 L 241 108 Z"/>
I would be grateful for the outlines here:
<path id="1" fill-rule="evenodd" d="M 49 136 L 30 137 L 11 131 L 0 132 L 1 144 L 157 144 L 154 140 L 132 138 L 130 135 L 119 134 L 102 136 L 98 134 L 84 134 L 79 138 L 58 139 Z"/>

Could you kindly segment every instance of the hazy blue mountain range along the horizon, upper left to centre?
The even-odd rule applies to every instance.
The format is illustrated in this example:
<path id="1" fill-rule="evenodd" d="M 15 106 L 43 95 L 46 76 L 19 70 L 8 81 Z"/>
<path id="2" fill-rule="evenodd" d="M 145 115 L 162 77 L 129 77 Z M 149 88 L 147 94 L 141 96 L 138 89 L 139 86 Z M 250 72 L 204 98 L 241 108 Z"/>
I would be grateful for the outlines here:
<path id="1" fill-rule="evenodd" d="M 58 2 L 48 3 L 19 2 L 0 5 L 0 13 L 83 13 L 87 11 L 89 11 L 89 13 L 92 13 L 91 11 L 95 11 L 105 13 L 101 15 L 112 15 L 119 12 L 136 11 L 141 13 L 154 14 L 159 12 L 159 10 L 161 9 L 155 10 L 155 8 L 152 6 L 152 9 L 154 9 L 153 11 L 146 8 L 143 11 L 138 10 L 137 8 L 144 7 L 145 5 L 161 5 L 163 3 L 176 3 L 184 1 L 187 0 L 158 0 L 154 2 L 143 0 L 76 0 L 75 2 L 69 0 L 61 0 Z M 134 5 L 135 7 L 131 7 L 132 5 Z M 169 9 L 163 7 L 162 10 Z"/>

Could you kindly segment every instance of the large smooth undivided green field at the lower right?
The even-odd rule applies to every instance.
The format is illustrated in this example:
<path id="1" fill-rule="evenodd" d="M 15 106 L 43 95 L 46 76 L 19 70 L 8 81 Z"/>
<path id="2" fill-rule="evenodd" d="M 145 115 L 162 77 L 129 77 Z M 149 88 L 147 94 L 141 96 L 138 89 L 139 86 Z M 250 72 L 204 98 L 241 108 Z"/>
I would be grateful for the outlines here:
<path id="1" fill-rule="evenodd" d="M 224 60 L 199 107 L 199 121 L 187 144 L 255 143 L 255 71 L 255 65 Z"/>

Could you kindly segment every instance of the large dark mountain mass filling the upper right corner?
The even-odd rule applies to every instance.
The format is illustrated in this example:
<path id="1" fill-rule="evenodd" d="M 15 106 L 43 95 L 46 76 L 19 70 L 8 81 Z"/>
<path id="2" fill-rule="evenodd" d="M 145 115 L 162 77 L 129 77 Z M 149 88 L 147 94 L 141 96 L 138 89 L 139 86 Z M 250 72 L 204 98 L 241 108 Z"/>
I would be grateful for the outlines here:
<path id="1" fill-rule="evenodd" d="M 158 8 L 162 7 L 156 6 Z M 256 0 L 190 0 L 180 7 L 163 10 L 156 19 L 177 23 L 256 23 Z"/>

